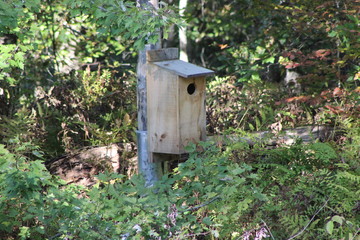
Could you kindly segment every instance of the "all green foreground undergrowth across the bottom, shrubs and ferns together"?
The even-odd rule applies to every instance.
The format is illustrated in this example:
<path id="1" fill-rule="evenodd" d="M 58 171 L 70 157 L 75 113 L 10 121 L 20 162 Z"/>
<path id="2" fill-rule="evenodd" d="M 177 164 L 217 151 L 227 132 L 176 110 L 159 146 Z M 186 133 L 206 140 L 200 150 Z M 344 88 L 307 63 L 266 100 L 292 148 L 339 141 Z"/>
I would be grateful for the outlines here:
<path id="1" fill-rule="evenodd" d="M 2 239 L 358 239 L 359 168 L 328 143 L 189 146 L 152 188 L 105 172 L 51 176 L 32 143 L 0 145 Z M 32 159 L 32 160 L 30 160 Z M 35 159 L 35 160 L 34 160 Z"/>

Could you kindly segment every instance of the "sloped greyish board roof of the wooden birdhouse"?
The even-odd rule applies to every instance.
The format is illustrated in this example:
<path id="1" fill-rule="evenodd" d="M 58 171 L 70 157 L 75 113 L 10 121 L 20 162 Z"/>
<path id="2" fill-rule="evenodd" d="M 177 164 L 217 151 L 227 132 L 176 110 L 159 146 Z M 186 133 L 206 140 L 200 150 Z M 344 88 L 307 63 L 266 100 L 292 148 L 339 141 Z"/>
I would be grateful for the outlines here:
<path id="1" fill-rule="evenodd" d="M 184 78 L 202 77 L 214 74 L 214 71 L 210 69 L 199 67 L 181 60 L 170 60 L 152 63 L 159 66 L 160 68 L 166 69 Z"/>

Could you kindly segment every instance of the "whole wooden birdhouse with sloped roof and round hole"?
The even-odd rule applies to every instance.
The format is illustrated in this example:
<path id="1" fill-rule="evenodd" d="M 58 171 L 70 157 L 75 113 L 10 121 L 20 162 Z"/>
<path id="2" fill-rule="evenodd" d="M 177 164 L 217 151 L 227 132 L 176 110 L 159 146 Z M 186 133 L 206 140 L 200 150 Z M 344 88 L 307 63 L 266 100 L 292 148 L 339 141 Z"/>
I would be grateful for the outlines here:
<path id="1" fill-rule="evenodd" d="M 185 153 L 206 139 L 205 77 L 214 72 L 178 60 L 177 48 L 148 51 L 147 61 L 149 152 Z"/>

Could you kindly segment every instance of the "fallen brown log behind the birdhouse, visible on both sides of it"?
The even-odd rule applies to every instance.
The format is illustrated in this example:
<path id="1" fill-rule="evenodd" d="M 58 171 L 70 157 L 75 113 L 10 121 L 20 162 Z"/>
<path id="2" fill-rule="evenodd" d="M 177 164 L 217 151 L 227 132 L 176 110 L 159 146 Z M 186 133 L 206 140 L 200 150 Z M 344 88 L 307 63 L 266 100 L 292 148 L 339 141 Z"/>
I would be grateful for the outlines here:
<path id="1" fill-rule="evenodd" d="M 216 144 L 225 142 L 246 142 L 249 146 L 256 143 L 264 148 L 291 145 L 296 140 L 304 144 L 334 139 L 335 130 L 328 126 L 303 126 L 286 129 L 279 133 L 271 131 L 250 132 L 247 136 L 209 136 L 208 141 Z M 97 182 L 96 175 L 103 171 L 116 172 L 128 177 L 137 173 L 137 147 L 135 143 L 111 144 L 79 149 L 51 159 L 46 166 L 53 175 L 59 176 L 68 184 L 75 183 L 90 187 Z"/>

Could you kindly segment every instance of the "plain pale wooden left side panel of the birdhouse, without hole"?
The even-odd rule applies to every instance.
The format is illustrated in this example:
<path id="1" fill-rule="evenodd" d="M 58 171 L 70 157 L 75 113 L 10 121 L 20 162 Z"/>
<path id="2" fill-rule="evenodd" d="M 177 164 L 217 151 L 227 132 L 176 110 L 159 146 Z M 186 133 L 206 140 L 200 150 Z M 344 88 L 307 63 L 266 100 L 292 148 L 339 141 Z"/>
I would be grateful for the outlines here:
<path id="1" fill-rule="evenodd" d="M 149 151 L 178 154 L 178 76 L 149 64 L 147 77 Z"/>

